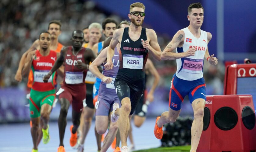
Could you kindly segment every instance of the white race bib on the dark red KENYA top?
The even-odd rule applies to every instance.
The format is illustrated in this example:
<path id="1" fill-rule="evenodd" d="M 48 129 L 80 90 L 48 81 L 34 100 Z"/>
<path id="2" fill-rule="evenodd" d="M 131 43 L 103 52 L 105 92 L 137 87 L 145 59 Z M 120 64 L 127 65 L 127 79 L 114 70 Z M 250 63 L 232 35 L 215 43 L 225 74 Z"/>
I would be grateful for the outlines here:
<path id="1" fill-rule="evenodd" d="M 83 72 L 66 72 L 66 77 L 65 77 L 65 82 L 66 84 L 79 84 L 83 83 Z"/>

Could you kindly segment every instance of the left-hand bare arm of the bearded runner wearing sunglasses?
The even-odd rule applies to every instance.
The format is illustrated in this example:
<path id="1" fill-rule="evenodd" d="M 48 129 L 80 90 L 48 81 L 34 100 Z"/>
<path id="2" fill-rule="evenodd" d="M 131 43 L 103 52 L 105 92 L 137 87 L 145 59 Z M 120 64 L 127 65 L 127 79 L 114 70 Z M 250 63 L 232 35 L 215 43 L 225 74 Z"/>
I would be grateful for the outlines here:
<path id="1" fill-rule="evenodd" d="M 118 43 L 121 42 L 123 36 L 124 28 L 116 29 L 113 34 L 112 40 L 110 41 L 108 51 L 107 51 L 107 63 L 104 65 L 106 70 L 110 70 L 113 68 L 112 57 L 114 56 L 114 49 Z"/>

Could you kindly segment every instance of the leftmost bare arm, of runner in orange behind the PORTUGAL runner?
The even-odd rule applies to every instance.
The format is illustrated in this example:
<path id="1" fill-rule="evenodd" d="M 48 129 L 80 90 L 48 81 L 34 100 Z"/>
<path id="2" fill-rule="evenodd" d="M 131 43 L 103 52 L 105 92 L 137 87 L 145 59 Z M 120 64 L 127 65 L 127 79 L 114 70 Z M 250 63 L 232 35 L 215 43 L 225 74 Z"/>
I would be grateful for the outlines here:
<path id="1" fill-rule="evenodd" d="M 22 68 L 24 66 L 24 64 L 26 63 L 26 57 L 27 57 L 27 54 L 31 51 L 34 51 L 34 50 L 39 50 L 39 40 L 35 40 L 34 43 L 32 44 L 32 46 L 25 52 L 22 54 L 22 57 L 20 59 L 20 63 L 19 63 L 19 67 L 18 67 L 18 70 L 15 74 L 15 77 L 14 79 L 18 82 L 20 82 L 22 80 L 22 75 L 21 75 L 21 72 L 22 72 Z"/>

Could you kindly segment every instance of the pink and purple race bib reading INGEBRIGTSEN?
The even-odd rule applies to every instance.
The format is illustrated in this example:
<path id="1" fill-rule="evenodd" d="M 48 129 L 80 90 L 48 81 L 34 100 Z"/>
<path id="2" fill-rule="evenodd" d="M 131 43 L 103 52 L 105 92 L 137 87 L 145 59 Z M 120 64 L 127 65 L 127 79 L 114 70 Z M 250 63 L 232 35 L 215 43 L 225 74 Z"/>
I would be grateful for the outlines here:
<path id="1" fill-rule="evenodd" d="M 202 71 L 203 68 L 203 59 L 184 59 L 183 69 L 190 71 Z"/>

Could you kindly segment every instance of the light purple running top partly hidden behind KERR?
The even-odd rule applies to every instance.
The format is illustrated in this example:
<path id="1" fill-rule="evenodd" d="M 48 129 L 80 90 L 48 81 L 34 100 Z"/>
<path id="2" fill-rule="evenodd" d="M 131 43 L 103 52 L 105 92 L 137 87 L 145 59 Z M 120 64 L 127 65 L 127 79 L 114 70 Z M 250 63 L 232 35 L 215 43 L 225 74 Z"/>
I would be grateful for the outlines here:
<path id="1" fill-rule="evenodd" d="M 115 54 L 114 56 L 112 57 L 112 62 L 113 62 L 113 68 L 111 70 L 105 70 L 104 66 L 103 66 L 103 75 L 105 75 L 106 77 L 110 77 L 112 78 L 112 83 L 110 84 L 107 84 L 110 88 L 113 88 L 115 89 L 114 87 L 114 81 L 115 81 L 115 78 L 116 78 L 116 74 L 119 70 L 119 52 L 117 50 L 117 48 L 115 47 Z M 104 63 L 105 65 L 106 63 Z M 103 81 L 101 81 L 101 84 L 104 84 L 106 85 L 106 83 L 104 83 Z M 110 86 L 112 85 L 112 86 Z M 107 86 L 107 88 L 109 88 Z"/>

